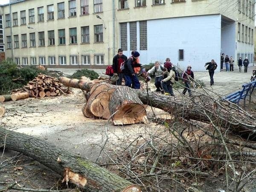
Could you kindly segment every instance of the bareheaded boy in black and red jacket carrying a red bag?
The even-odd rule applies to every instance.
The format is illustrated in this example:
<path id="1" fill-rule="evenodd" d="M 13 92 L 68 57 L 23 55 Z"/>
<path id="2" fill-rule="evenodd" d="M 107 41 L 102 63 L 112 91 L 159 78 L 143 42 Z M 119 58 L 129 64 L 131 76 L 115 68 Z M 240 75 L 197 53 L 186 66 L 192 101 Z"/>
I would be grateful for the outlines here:
<path id="1" fill-rule="evenodd" d="M 113 71 L 114 75 L 118 75 L 119 79 L 116 81 L 116 85 L 122 85 L 122 79 L 124 78 L 124 73 L 122 73 L 120 66 L 122 62 L 127 60 L 127 57 L 122 54 L 123 50 L 118 49 L 117 55 L 113 57 Z"/>

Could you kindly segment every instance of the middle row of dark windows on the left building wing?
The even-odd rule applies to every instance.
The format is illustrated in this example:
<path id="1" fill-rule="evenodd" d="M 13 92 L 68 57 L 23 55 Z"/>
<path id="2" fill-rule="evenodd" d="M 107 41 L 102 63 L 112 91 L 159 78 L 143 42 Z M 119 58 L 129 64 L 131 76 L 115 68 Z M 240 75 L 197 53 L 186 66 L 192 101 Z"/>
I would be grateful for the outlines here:
<path id="1" fill-rule="evenodd" d="M 19 44 L 19 35 L 13 35 L 14 39 L 14 48 L 17 49 L 20 47 Z M 11 36 L 6 36 L 7 49 L 12 48 L 12 38 Z M 35 33 L 29 33 L 29 42 L 30 47 L 36 47 Z M 103 28 L 102 25 L 94 26 L 94 42 L 99 43 L 103 42 Z M 81 43 L 88 44 L 90 43 L 90 34 L 89 34 L 89 26 L 81 27 Z M 65 29 L 58 29 L 58 45 L 66 44 L 66 34 Z M 77 30 L 76 28 L 69 29 L 69 44 L 77 44 Z M 55 32 L 54 30 L 48 31 L 48 46 L 55 45 Z M 44 31 L 38 32 L 38 46 L 45 46 L 45 36 Z M 21 34 L 21 47 L 27 47 L 27 34 Z"/>

